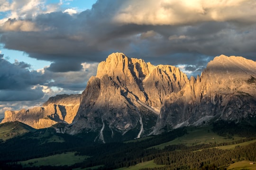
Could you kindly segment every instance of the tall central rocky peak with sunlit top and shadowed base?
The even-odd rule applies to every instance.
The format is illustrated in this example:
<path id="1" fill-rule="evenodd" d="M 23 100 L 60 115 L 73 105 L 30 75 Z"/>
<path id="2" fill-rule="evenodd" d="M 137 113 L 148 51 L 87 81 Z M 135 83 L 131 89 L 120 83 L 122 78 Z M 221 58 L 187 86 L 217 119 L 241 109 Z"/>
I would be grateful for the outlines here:
<path id="1" fill-rule="evenodd" d="M 94 131 L 98 134 L 95 140 L 102 142 L 118 134 L 145 136 L 152 132 L 166 95 L 180 91 L 187 82 L 179 68 L 113 53 L 90 78 L 66 132 Z"/>

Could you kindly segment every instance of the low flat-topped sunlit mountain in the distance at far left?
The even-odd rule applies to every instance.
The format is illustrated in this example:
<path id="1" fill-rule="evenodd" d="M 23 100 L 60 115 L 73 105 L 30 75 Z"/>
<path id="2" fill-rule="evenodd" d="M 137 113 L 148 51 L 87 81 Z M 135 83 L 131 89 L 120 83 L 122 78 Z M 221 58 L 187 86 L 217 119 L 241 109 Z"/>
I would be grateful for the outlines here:
<path id="1" fill-rule="evenodd" d="M 61 94 L 50 97 L 43 107 L 7 110 L 1 123 L 20 121 L 34 128 L 50 127 L 58 122 L 72 123 L 80 104 L 81 94 Z"/>

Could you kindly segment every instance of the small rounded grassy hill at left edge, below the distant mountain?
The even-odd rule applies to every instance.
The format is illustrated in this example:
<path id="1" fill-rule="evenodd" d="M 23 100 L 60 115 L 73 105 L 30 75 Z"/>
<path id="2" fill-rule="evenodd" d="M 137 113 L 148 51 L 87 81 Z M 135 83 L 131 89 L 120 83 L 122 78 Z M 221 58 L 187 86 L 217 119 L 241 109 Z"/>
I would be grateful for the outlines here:
<path id="1" fill-rule="evenodd" d="M 27 132 L 34 132 L 35 128 L 30 127 L 24 123 L 15 121 L 15 122 L 6 122 L 0 124 L 0 139 L 7 140 L 12 137 L 22 135 Z"/>

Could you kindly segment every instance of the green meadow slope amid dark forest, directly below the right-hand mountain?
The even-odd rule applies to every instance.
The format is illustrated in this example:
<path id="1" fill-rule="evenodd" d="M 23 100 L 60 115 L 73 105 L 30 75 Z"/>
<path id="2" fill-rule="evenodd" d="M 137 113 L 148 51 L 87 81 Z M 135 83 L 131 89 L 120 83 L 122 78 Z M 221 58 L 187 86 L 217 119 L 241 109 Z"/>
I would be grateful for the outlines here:
<path id="1" fill-rule="evenodd" d="M 212 127 L 188 127 L 187 133 L 184 136 L 178 137 L 172 141 L 159 144 L 156 146 L 152 146 L 150 148 L 158 148 L 163 149 L 165 146 L 172 144 L 185 144 L 188 146 L 197 145 L 197 144 L 210 144 L 210 143 L 223 143 L 223 142 L 231 142 L 234 140 L 241 139 L 238 136 L 232 136 L 232 138 L 226 138 L 223 136 L 219 136 L 218 134 L 212 132 Z"/>

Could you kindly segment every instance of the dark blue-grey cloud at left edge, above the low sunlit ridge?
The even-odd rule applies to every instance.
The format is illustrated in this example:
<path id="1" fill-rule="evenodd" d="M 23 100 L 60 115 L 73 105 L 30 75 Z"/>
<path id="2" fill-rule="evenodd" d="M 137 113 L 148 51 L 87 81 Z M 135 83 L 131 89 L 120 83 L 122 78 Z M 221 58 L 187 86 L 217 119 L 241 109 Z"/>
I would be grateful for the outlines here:
<path id="1" fill-rule="evenodd" d="M 44 96 L 41 75 L 36 71 L 29 71 L 29 64 L 15 61 L 9 63 L 0 58 L 0 101 L 32 101 Z"/>

